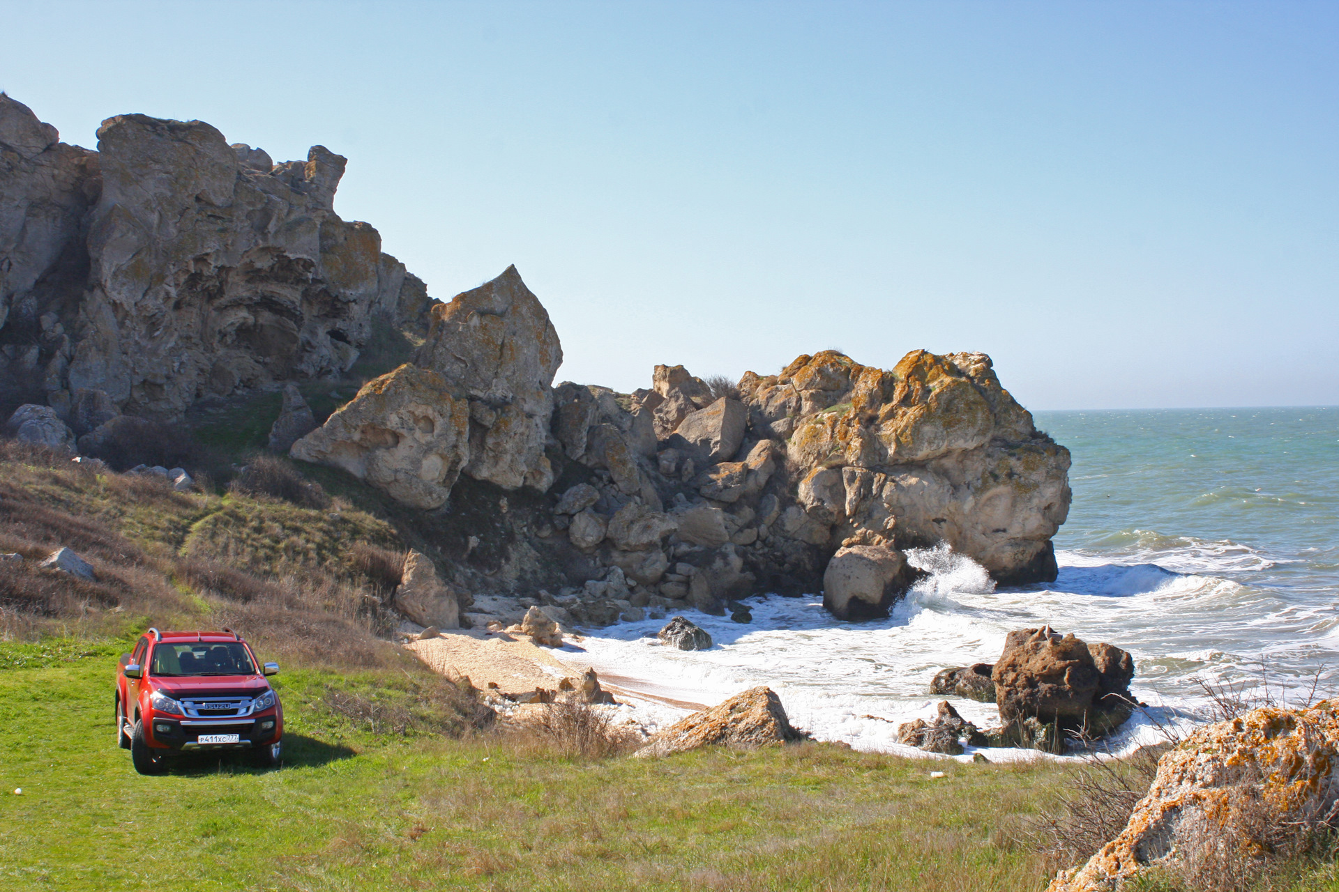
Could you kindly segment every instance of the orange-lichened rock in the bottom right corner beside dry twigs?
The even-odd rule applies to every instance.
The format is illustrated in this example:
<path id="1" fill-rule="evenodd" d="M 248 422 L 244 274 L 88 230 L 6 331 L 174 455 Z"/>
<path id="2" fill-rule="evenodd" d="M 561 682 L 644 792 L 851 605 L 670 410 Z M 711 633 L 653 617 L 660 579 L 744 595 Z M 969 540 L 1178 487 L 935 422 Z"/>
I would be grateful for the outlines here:
<path id="1" fill-rule="evenodd" d="M 1047 892 L 1114 892 L 1152 867 L 1192 879 L 1267 855 L 1339 809 L 1339 703 L 1256 709 L 1166 753 L 1125 829 Z"/>

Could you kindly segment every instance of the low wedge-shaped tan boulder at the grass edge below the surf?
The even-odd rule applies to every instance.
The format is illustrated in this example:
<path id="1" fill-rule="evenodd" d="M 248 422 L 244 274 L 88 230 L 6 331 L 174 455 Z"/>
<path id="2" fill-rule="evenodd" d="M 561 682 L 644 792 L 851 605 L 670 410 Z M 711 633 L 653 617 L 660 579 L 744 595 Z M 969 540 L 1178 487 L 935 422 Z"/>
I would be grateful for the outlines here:
<path id="1" fill-rule="evenodd" d="M 759 686 L 671 725 L 633 756 L 655 758 L 712 745 L 757 749 L 801 740 L 805 734 L 790 725 L 781 698 Z"/>

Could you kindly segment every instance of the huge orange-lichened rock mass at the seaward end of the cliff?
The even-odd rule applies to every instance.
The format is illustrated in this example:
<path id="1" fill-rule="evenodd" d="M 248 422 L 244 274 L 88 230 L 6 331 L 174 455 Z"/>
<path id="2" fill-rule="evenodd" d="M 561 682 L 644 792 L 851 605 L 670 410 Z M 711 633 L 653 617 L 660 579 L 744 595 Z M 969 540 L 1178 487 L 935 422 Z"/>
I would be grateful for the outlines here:
<path id="1" fill-rule="evenodd" d="M 830 528 L 830 550 L 861 535 L 900 550 L 947 542 L 999 582 L 1055 579 L 1070 455 L 984 353 L 913 350 L 885 370 L 823 350 L 746 373 L 739 391 L 751 428 L 786 440 L 794 497 Z"/>

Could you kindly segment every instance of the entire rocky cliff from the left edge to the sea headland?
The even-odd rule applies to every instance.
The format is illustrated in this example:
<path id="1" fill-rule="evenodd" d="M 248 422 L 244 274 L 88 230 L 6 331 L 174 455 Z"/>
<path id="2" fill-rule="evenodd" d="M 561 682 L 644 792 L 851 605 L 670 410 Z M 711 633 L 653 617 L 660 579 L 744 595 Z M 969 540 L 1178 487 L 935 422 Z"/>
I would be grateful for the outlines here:
<path id="1" fill-rule="evenodd" d="M 981 353 L 553 386 L 558 334 L 516 267 L 434 304 L 335 214 L 344 159 L 320 146 L 273 164 L 201 122 L 121 115 L 92 152 L 0 95 L 0 397 L 29 404 L 11 433 L 83 448 L 121 413 L 337 376 L 374 326 L 414 329 L 412 361 L 315 431 L 292 392 L 273 441 L 411 512 L 479 622 L 510 610 L 489 595 L 586 623 L 819 590 L 880 615 L 915 579 L 905 551 L 941 542 L 1000 582 L 1055 576 L 1069 452 Z"/>

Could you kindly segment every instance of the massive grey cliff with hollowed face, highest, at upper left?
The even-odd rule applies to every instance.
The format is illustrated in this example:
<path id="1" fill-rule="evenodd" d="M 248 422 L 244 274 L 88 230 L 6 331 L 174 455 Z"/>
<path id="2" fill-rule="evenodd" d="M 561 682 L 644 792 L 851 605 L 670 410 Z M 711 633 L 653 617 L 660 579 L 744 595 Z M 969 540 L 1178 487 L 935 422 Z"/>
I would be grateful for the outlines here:
<path id="1" fill-rule="evenodd" d="M 378 318 L 424 310 L 376 230 L 335 214 L 343 158 L 241 150 L 204 122 L 116 115 L 94 152 L 0 96 L 0 400 L 99 389 L 175 417 L 340 373 Z"/>

